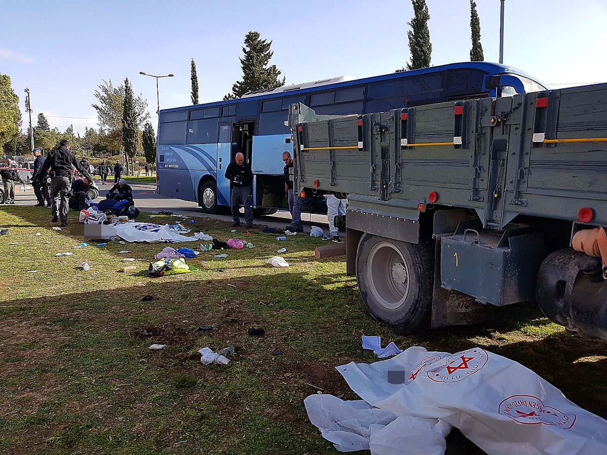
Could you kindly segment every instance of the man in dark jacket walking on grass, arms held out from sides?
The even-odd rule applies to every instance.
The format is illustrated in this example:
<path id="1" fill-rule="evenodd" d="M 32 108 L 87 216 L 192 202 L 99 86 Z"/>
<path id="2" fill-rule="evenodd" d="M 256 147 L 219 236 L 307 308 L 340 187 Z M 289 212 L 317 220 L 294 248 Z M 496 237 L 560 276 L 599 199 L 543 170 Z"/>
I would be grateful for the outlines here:
<path id="1" fill-rule="evenodd" d="M 46 176 L 47 171 L 53 171 L 54 177 L 50 180 L 50 197 L 53 200 L 53 223 L 56 223 L 58 218 L 61 218 L 61 226 L 67 226 L 67 212 L 69 211 L 69 194 L 70 180 L 72 177 L 72 168 L 75 167 L 84 175 L 84 178 L 92 183 L 89 170 L 80 166 L 78 160 L 72 152 L 70 152 L 70 143 L 67 140 L 59 143 L 59 148 L 51 150 L 49 156 L 44 160 L 42 169 L 40 170 L 41 178 Z"/>

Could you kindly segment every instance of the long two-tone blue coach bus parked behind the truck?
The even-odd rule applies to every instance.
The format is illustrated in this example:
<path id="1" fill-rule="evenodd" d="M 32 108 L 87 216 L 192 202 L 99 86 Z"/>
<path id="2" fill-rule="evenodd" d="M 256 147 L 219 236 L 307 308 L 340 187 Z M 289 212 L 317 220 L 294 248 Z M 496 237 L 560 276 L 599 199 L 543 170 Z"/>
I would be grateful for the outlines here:
<path id="1" fill-rule="evenodd" d="M 237 152 L 253 169 L 254 214 L 287 208 L 282 153 L 292 151 L 288 107 L 328 115 L 385 112 L 443 101 L 545 90 L 520 70 L 464 62 L 364 79 L 332 78 L 259 90 L 239 99 L 163 109 L 158 119 L 157 190 L 212 214 L 229 206 L 225 169 Z M 326 207 L 305 204 L 311 212 Z M 325 212 L 326 213 L 326 212 Z"/>

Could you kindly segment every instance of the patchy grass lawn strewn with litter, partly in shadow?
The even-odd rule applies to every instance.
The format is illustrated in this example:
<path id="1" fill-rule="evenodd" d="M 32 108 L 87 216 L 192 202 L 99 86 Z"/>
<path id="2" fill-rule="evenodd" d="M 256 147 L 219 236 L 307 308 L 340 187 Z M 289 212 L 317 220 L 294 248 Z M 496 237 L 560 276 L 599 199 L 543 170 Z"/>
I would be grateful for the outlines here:
<path id="1" fill-rule="evenodd" d="M 396 335 L 368 315 L 342 258 L 314 260 L 316 238 L 275 241 L 259 228 L 249 236 L 199 219 L 195 230 L 255 248 L 225 259 L 204 252 L 187 260 L 199 272 L 149 278 L 164 244 L 78 249 L 82 240 L 52 231 L 47 209 L 37 207 L 2 207 L 0 226 L 10 229 L 0 236 L 2 453 L 336 453 L 308 422 L 303 400 L 315 393 L 307 384 L 357 398 L 334 366 L 376 360 L 362 351 L 363 334 L 401 348 L 481 346 L 607 417 L 607 343 L 566 335 L 529 305 L 501 308 L 483 325 Z M 283 247 L 291 267 L 265 265 Z M 73 255 L 54 256 L 66 251 Z M 124 265 L 137 271 L 117 272 Z M 251 327 L 265 336 L 249 336 Z M 151 351 L 152 343 L 168 346 Z M 197 350 L 205 346 L 237 352 L 227 366 L 204 366 Z"/>

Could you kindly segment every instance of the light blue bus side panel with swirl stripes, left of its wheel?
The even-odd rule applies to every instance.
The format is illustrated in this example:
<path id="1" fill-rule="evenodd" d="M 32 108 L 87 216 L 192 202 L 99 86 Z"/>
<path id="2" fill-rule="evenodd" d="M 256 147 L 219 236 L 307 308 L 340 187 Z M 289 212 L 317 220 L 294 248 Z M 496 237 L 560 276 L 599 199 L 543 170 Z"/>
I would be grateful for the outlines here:
<path id="1" fill-rule="evenodd" d="M 198 200 L 198 182 L 217 175 L 217 144 L 161 146 L 158 163 L 161 194 L 186 201 Z"/>

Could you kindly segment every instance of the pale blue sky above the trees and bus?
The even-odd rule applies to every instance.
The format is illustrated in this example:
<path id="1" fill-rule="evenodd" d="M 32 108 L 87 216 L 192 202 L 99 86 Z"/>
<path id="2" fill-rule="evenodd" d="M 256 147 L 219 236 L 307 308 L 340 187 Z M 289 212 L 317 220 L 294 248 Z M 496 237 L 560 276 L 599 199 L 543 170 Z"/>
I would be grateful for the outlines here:
<path id="1" fill-rule="evenodd" d="M 498 61 L 500 1 L 476 0 L 486 61 Z M 469 60 L 469 0 L 427 0 L 432 64 Z M 506 0 L 504 63 L 548 84 L 607 81 L 607 1 Z M 198 69 L 200 102 L 217 101 L 240 78 L 241 48 L 249 30 L 273 41 L 287 84 L 331 76 L 380 75 L 409 60 L 408 0 L 40 1 L 0 0 L 0 73 L 12 78 L 24 109 L 32 92 L 33 122 L 43 112 L 51 126 L 97 127 L 91 104 L 102 79 L 128 77 L 160 107 L 190 104 L 190 59 Z M 6 20 L 10 18 L 10 21 Z M 24 127 L 27 117 L 24 112 Z"/>

